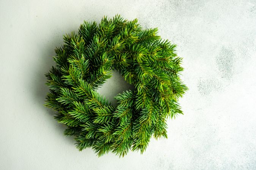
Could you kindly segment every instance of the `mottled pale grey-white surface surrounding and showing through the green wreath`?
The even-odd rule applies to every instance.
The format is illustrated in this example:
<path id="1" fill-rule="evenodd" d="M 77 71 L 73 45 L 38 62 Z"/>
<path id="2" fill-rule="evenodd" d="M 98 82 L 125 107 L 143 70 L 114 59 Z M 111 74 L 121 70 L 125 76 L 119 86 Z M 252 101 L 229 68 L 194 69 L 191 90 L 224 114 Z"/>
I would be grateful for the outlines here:
<path id="1" fill-rule="evenodd" d="M 255 0 L 1 0 L 0 169 L 256 169 Z M 55 46 L 83 20 L 138 18 L 176 43 L 189 91 L 143 155 L 77 151 L 43 106 Z M 117 83 L 116 83 L 116 82 Z M 99 91 L 126 90 L 117 73 Z"/>

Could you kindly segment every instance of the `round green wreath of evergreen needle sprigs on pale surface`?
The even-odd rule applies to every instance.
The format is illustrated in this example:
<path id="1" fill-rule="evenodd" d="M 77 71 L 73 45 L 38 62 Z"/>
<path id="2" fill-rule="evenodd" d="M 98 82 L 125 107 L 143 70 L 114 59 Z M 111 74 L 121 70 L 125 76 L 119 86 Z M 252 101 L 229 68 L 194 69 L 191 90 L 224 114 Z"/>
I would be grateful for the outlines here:
<path id="1" fill-rule="evenodd" d="M 167 138 L 166 119 L 182 114 L 177 100 L 187 87 L 175 47 L 157 36 L 157 28 L 142 29 L 137 19 L 116 15 L 98 26 L 84 22 L 55 49 L 45 106 L 57 111 L 55 119 L 67 126 L 64 135 L 75 136 L 80 151 L 143 153 L 151 136 Z M 135 87 L 115 97 L 117 106 L 96 92 L 113 70 Z"/>

